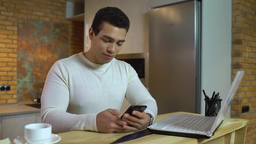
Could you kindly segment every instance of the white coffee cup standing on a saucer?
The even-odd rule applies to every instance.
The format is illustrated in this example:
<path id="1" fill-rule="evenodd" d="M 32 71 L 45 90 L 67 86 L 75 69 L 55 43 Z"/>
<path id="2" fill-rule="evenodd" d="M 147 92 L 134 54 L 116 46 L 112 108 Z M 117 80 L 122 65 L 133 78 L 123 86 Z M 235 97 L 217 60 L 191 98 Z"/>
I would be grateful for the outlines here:
<path id="1" fill-rule="evenodd" d="M 36 123 L 24 126 L 24 138 L 29 144 L 47 144 L 52 135 L 52 125 Z"/>

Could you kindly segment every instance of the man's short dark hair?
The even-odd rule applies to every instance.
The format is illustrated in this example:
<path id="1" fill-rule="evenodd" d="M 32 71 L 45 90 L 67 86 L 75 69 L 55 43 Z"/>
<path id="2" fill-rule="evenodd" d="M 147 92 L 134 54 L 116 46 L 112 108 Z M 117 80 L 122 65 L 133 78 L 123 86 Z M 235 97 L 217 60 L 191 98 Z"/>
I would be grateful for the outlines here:
<path id="1" fill-rule="evenodd" d="M 102 30 L 101 26 L 103 22 L 108 22 L 118 28 L 125 28 L 126 32 L 128 32 L 130 28 L 129 18 L 122 10 L 116 7 L 105 7 L 98 10 L 92 21 L 92 29 L 95 35 L 98 35 L 100 30 Z"/>

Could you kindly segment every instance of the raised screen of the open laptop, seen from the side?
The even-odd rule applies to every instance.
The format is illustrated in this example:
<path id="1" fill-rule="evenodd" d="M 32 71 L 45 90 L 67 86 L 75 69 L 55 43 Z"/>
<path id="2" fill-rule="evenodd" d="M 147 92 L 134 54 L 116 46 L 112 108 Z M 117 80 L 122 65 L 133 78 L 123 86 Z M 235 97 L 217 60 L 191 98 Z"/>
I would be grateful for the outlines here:
<path id="1" fill-rule="evenodd" d="M 213 122 L 212 128 L 210 130 L 211 133 L 214 132 L 214 130 L 218 127 L 220 122 L 224 120 L 224 117 L 230 108 L 230 105 L 232 103 L 232 100 L 234 98 L 234 95 L 236 94 L 236 90 L 238 89 L 238 86 L 240 85 L 240 82 L 242 81 L 242 78 L 244 76 L 244 71 L 238 71 L 236 73 L 236 76 L 230 86 L 230 90 L 228 92 L 228 96 L 226 98 L 226 101 L 224 104 L 221 106 L 220 111 L 218 112 L 218 115 L 216 116 L 216 119 Z"/>

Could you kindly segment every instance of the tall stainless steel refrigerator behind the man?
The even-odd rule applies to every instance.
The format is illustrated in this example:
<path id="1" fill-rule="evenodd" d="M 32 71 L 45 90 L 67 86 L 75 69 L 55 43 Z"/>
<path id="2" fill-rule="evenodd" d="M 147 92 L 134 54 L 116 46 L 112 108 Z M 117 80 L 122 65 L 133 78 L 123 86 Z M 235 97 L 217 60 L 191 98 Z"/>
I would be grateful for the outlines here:
<path id="1" fill-rule="evenodd" d="M 149 92 L 158 114 L 200 113 L 200 2 L 149 12 Z"/>

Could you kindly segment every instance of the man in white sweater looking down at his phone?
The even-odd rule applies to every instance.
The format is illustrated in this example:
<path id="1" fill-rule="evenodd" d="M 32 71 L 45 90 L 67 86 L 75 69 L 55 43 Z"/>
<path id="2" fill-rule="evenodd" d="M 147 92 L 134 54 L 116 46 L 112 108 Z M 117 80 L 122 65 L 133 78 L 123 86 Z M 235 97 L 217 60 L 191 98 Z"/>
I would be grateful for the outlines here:
<path id="1" fill-rule="evenodd" d="M 154 120 L 156 101 L 136 71 L 114 58 L 129 27 L 130 21 L 120 9 L 98 10 L 89 29 L 90 50 L 58 60 L 52 66 L 41 96 L 41 117 L 42 122 L 52 124 L 54 133 L 137 131 Z M 130 104 L 148 108 L 124 114 L 121 119 L 124 96 Z"/>

